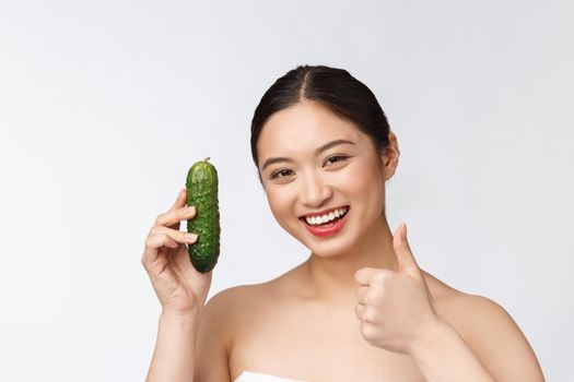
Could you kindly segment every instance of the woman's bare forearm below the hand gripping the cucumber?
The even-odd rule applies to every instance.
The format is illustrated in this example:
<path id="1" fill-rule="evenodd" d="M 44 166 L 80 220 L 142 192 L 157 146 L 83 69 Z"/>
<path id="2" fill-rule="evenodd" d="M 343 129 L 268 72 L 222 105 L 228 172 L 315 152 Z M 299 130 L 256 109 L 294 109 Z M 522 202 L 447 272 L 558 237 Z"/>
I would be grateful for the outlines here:
<path id="1" fill-rule="evenodd" d="M 194 381 L 194 356 L 199 312 L 162 312 L 147 382 Z"/>

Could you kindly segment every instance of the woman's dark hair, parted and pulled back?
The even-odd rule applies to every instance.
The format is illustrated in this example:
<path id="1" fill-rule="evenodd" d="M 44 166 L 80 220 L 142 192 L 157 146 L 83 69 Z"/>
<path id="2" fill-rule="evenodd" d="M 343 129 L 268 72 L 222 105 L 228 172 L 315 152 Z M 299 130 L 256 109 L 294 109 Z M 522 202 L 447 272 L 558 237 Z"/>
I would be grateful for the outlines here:
<path id="1" fill-rule="evenodd" d="M 267 89 L 255 109 L 251 120 L 251 156 L 256 167 L 257 140 L 265 122 L 273 112 L 305 100 L 320 103 L 341 118 L 356 124 L 371 138 L 377 153 L 389 144 L 390 128 L 387 117 L 365 84 L 343 69 L 298 65 L 279 77 Z"/>

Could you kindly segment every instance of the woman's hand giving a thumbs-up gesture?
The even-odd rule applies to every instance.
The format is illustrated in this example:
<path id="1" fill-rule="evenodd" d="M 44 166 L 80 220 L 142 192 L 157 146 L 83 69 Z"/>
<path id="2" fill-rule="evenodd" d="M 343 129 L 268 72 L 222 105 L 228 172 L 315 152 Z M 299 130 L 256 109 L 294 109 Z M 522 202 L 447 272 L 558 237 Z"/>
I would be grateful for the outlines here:
<path id="1" fill-rule="evenodd" d="M 410 354 L 417 338 L 442 318 L 410 250 L 405 224 L 395 232 L 393 246 L 398 272 L 373 267 L 356 271 L 360 286 L 355 314 L 361 321 L 361 335 L 368 344 Z"/>

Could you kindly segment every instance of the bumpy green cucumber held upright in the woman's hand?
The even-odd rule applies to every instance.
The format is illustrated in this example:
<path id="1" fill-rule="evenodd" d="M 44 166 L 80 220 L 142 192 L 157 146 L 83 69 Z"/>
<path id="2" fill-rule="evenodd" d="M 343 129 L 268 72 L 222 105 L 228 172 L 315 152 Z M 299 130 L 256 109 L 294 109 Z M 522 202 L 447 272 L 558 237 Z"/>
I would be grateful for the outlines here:
<path id="1" fill-rule="evenodd" d="M 198 235 L 189 244 L 189 259 L 200 273 L 208 273 L 218 263 L 220 254 L 220 212 L 218 202 L 218 171 L 209 157 L 194 164 L 187 172 L 187 205 L 196 206 L 196 215 L 187 220 L 187 231 Z"/>

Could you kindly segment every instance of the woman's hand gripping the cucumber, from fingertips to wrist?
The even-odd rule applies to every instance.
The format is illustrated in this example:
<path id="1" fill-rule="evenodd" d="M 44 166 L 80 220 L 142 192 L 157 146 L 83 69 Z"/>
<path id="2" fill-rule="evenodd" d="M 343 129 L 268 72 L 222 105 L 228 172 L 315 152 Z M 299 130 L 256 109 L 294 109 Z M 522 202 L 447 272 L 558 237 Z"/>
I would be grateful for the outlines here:
<path id="1" fill-rule="evenodd" d="M 163 312 L 177 314 L 188 314 L 203 307 L 213 272 L 196 271 L 189 259 L 186 243 L 192 246 L 197 235 L 180 231 L 179 224 L 196 216 L 196 210 L 195 206 L 186 207 L 186 200 L 184 189 L 174 205 L 157 216 L 141 258 Z"/>

